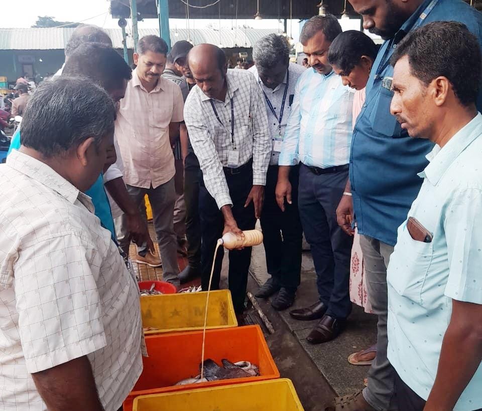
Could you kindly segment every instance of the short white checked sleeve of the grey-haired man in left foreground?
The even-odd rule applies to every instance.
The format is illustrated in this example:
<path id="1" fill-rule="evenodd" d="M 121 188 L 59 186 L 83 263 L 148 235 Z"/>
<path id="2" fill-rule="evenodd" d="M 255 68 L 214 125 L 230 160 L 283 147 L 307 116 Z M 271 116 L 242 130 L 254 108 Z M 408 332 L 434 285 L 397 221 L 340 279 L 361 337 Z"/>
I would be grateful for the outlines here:
<path id="1" fill-rule="evenodd" d="M 22 249 L 14 264 L 27 370 L 39 372 L 106 345 L 93 247 L 59 235 Z"/>

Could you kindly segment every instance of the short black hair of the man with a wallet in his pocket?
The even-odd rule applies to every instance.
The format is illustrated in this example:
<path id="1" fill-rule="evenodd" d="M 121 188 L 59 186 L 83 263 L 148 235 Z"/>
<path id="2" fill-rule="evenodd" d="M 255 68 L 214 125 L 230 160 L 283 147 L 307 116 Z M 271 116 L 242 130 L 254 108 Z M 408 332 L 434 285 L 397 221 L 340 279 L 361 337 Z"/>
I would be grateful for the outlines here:
<path id="1" fill-rule="evenodd" d="M 477 38 L 459 22 L 434 22 L 409 33 L 391 58 L 408 56 L 410 72 L 426 86 L 443 76 L 464 106 L 475 103 L 480 89 L 482 58 Z"/>

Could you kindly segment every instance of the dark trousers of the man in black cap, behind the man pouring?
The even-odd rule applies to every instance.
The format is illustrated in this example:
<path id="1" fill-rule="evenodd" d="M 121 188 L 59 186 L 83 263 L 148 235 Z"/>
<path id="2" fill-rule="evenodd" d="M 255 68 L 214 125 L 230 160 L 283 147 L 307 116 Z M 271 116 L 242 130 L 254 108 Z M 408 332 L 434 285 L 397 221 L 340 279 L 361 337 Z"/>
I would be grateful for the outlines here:
<path id="1" fill-rule="evenodd" d="M 201 221 L 199 219 L 199 166 L 184 169 L 184 202 L 186 204 L 187 259 L 192 268 L 201 268 Z"/>

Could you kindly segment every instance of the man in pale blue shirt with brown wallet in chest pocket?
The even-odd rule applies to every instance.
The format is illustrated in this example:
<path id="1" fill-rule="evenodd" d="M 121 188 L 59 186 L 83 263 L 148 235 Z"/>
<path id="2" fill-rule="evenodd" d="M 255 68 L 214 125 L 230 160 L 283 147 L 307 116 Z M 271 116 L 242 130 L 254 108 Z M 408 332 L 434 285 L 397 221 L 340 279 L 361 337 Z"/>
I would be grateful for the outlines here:
<path id="1" fill-rule="evenodd" d="M 472 411 L 482 408 L 479 44 L 461 23 L 430 23 L 402 40 L 392 64 L 392 114 L 435 143 L 387 272 L 398 406 Z"/>

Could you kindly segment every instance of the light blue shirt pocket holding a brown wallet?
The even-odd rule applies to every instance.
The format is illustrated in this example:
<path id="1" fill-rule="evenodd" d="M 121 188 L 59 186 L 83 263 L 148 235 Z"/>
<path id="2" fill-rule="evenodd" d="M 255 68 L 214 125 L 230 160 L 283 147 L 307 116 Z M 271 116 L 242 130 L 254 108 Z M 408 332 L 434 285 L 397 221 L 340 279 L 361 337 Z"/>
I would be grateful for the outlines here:
<path id="1" fill-rule="evenodd" d="M 390 258 L 389 282 L 403 297 L 422 305 L 422 287 L 433 255 L 433 242 L 412 239 L 404 223 L 399 232 L 394 254 Z"/>

